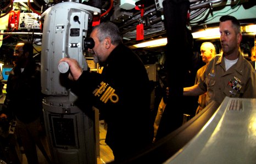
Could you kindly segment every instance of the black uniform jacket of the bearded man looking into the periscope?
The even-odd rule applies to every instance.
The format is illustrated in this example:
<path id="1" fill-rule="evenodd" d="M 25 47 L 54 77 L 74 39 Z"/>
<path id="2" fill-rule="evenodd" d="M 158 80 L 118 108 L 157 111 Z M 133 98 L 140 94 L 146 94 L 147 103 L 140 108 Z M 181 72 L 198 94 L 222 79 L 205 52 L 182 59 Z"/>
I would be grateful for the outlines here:
<path id="1" fill-rule="evenodd" d="M 123 44 L 118 45 L 104 63 L 102 74 L 84 71 L 73 87 L 78 106 L 86 112 L 96 106 L 108 124 L 105 142 L 113 151 L 133 150 L 152 143 L 153 118 L 151 91 L 146 68 L 141 59 Z M 101 83 L 114 89 L 112 101 L 101 98 Z M 102 84 L 103 84 L 102 83 Z M 97 94 L 97 91 L 98 94 Z M 87 104 L 87 105 L 86 105 Z M 125 143 L 125 146 L 124 146 Z M 132 153 L 132 152 L 130 152 Z"/>

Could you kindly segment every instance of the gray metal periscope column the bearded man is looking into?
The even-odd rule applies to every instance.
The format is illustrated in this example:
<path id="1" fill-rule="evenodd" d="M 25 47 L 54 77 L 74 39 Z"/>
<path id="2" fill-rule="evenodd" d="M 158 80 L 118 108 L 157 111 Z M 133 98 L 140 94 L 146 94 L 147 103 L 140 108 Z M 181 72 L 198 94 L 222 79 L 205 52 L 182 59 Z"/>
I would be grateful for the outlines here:
<path id="1" fill-rule="evenodd" d="M 41 84 L 42 93 L 47 95 L 43 99 L 43 114 L 54 163 L 97 163 L 94 117 L 74 105 L 76 96 L 65 86 L 58 71 L 63 57 L 75 58 L 87 69 L 83 48 L 93 12 L 101 10 L 62 2 L 41 15 Z"/>

